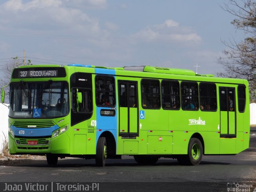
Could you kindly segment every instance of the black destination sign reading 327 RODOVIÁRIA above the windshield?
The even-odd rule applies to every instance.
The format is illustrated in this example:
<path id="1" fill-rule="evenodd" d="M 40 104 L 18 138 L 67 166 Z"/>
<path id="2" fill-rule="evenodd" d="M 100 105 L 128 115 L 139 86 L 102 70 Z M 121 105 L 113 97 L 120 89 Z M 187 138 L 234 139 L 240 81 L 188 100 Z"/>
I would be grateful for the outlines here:
<path id="1" fill-rule="evenodd" d="M 65 69 L 58 67 L 17 68 L 14 69 L 12 73 L 12 78 L 44 78 L 65 76 Z"/>

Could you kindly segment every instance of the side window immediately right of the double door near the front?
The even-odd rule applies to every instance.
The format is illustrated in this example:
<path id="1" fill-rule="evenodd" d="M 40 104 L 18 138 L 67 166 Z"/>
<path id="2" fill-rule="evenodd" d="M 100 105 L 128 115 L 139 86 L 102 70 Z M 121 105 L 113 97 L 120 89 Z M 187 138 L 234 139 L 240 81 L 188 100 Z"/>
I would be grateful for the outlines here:
<path id="1" fill-rule="evenodd" d="M 160 109 L 160 86 L 158 80 L 142 79 L 141 95 L 142 108 Z"/>

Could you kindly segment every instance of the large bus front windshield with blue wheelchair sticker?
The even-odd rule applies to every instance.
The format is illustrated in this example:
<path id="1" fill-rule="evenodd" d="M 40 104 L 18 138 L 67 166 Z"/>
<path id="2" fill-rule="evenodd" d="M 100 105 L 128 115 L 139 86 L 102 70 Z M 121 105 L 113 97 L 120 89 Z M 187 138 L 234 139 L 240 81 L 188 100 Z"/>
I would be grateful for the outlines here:
<path id="1" fill-rule="evenodd" d="M 13 82 L 10 84 L 12 118 L 57 118 L 69 112 L 67 82 Z"/>

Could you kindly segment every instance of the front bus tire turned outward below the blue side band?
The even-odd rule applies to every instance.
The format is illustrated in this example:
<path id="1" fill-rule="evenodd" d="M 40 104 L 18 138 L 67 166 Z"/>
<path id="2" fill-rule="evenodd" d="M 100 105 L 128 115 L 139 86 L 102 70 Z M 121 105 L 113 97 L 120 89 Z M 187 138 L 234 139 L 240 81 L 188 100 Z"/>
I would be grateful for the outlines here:
<path id="1" fill-rule="evenodd" d="M 96 148 L 96 165 L 104 167 L 107 158 L 107 142 L 105 137 L 100 137 Z"/>

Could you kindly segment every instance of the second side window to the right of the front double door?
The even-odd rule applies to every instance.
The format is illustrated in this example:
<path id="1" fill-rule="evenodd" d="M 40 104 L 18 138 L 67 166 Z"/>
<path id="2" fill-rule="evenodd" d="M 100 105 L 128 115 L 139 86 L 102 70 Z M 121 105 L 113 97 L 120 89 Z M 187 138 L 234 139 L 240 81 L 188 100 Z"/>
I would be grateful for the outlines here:
<path id="1" fill-rule="evenodd" d="M 162 108 L 180 108 L 180 88 L 178 81 L 162 80 Z"/>

